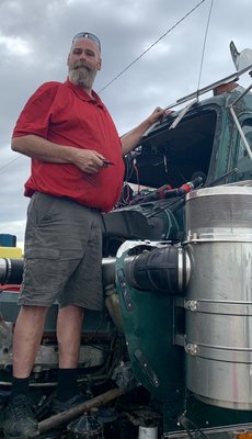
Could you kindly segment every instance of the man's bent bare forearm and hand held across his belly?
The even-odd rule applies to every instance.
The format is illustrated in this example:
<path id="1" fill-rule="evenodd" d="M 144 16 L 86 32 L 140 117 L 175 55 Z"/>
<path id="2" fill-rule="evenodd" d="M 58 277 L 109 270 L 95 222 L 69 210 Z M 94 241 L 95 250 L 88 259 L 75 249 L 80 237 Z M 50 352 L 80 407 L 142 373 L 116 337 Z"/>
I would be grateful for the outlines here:
<path id="1" fill-rule="evenodd" d="M 37 160 L 76 165 L 88 173 L 98 172 L 104 166 L 105 159 L 98 151 L 58 145 L 34 134 L 13 137 L 11 147 L 14 151 Z"/>

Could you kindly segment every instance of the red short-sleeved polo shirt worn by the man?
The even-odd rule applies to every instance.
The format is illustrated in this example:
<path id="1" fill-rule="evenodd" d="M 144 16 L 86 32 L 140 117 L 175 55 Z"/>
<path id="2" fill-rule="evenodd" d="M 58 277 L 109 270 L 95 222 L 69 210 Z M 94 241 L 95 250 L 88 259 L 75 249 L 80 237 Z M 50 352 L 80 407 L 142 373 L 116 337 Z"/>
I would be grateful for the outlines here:
<path id="1" fill-rule="evenodd" d="M 93 95 L 94 100 L 69 80 L 44 83 L 24 106 L 13 137 L 35 134 L 59 145 L 93 149 L 114 165 L 90 175 L 71 164 L 32 159 L 26 196 L 35 191 L 69 196 L 104 212 L 118 201 L 124 177 L 121 139 L 105 105 Z"/>

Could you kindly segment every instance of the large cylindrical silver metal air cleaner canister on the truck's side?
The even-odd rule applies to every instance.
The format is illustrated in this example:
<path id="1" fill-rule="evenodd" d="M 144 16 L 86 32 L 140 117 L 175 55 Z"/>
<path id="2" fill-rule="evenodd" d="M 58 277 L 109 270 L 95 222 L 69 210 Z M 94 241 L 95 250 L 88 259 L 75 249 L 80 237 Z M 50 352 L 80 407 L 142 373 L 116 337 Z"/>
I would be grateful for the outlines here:
<path id="1" fill-rule="evenodd" d="M 186 385 L 197 398 L 252 408 L 252 188 L 201 189 L 186 199 Z"/>

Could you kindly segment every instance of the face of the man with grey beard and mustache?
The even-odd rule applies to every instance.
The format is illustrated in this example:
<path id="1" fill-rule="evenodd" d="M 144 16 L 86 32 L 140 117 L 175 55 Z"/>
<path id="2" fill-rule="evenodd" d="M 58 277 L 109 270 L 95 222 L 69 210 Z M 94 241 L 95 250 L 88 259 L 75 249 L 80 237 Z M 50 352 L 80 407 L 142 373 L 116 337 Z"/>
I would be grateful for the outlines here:
<path id="1" fill-rule="evenodd" d="M 67 64 L 70 81 L 84 89 L 92 89 L 102 65 L 98 45 L 87 37 L 75 41 Z"/>

